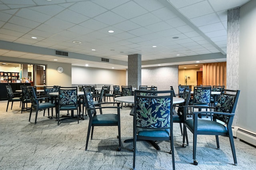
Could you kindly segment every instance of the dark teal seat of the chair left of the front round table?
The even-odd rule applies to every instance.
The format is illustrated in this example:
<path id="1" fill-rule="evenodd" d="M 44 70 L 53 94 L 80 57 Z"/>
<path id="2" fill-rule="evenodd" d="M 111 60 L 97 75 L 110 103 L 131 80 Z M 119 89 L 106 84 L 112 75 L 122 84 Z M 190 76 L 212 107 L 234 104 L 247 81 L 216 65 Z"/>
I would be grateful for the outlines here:
<path id="1" fill-rule="evenodd" d="M 92 118 L 92 124 L 112 124 L 118 123 L 117 114 L 102 114 L 102 115 L 95 115 Z"/>

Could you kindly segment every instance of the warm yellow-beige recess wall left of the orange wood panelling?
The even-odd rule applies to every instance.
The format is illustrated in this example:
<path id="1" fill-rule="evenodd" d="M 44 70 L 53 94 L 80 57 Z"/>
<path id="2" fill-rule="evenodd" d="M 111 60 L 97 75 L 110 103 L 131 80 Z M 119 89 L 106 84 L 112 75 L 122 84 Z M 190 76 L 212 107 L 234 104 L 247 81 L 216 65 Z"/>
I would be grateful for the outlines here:
<path id="1" fill-rule="evenodd" d="M 196 72 L 200 69 L 179 69 L 178 84 L 186 85 L 185 76 L 187 76 L 187 85 L 197 85 Z M 190 77 L 190 78 L 188 78 Z"/>

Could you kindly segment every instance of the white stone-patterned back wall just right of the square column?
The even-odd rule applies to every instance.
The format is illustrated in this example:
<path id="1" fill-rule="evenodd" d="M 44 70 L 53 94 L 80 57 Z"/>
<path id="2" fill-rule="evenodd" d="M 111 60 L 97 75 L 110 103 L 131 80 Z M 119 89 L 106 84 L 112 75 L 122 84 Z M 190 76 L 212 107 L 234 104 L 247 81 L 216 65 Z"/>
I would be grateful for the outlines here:
<path id="1" fill-rule="evenodd" d="M 178 65 L 142 68 L 141 75 L 141 85 L 154 85 L 158 90 L 170 90 L 173 86 L 178 94 Z"/>

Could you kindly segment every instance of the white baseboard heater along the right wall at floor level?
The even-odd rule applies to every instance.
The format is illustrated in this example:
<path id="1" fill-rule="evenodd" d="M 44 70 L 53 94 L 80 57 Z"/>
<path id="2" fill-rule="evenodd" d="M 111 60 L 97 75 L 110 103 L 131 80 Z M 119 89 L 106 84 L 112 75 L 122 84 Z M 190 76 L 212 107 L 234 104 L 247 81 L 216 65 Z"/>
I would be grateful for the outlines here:
<path id="1" fill-rule="evenodd" d="M 240 127 L 232 127 L 233 136 L 256 146 L 256 133 Z"/>

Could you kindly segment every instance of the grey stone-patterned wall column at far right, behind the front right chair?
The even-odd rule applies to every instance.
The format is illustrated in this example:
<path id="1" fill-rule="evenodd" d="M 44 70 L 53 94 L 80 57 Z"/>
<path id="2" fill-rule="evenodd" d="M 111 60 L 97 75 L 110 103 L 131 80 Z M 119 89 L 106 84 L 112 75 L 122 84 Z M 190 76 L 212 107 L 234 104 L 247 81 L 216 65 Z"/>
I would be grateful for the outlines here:
<path id="1" fill-rule="evenodd" d="M 228 10 L 227 26 L 227 89 L 237 90 L 239 83 L 239 24 L 240 8 Z M 238 106 L 233 126 L 238 125 Z"/>

